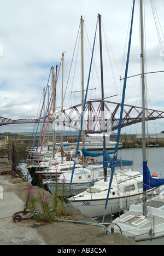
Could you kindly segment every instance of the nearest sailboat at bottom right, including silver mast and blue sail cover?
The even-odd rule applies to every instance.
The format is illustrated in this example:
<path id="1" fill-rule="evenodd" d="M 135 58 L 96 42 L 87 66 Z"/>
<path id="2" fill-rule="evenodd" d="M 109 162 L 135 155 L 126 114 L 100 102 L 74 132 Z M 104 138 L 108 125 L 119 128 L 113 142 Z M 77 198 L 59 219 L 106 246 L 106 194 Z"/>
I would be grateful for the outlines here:
<path id="1" fill-rule="evenodd" d="M 145 146 L 145 117 L 144 117 L 144 34 L 143 34 L 143 1 L 140 0 L 140 31 L 141 31 L 141 57 L 142 57 L 142 97 L 143 97 L 143 198 L 135 203 L 130 210 L 122 214 L 120 218 L 114 220 L 114 224 L 119 225 L 122 233 L 132 237 L 139 245 L 163 245 L 164 244 L 164 200 L 163 195 L 156 195 L 149 198 L 147 190 L 150 187 L 157 187 L 164 184 L 164 179 L 153 179 L 146 159 Z M 163 187 L 163 186 L 161 186 Z"/>

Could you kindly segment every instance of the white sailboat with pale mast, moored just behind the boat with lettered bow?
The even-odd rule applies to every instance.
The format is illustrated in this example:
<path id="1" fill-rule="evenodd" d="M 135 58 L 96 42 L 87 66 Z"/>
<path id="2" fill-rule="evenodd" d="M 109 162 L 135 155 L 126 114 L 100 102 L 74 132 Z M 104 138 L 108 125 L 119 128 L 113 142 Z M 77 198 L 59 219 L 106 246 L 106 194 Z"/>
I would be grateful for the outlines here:
<path id="1" fill-rule="evenodd" d="M 82 109 L 83 109 L 81 120 L 83 120 L 83 113 L 84 113 L 84 108 L 85 108 L 85 104 L 84 104 L 84 70 L 83 70 L 83 66 L 84 66 L 84 61 L 83 61 L 83 22 L 84 21 L 81 16 L 81 20 L 80 20 L 80 24 L 81 24 L 81 74 L 82 74 L 81 84 L 82 84 Z M 90 75 L 89 75 L 89 77 L 90 77 Z M 88 81 L 88 84 L 89 84 L 89 81 Z M 87 85 L 87 87 L 88 87 L 88 85 Z M 85 96 L 85 102 L 86 102 L 86 96 Z M 81 133 L 82 133 L 82 141 L 83 141 L 83 148 L 84 148 L 85 138 L 84 138 L 84 129 L 82 131 L 82 125 L 81 125 L 81 131 L 79 132 L 78 145 L 80 142 Z M 65 181 L 66 195 L 70 196 L 70 195 L 79 194 L 81 191 L 84 191 L 86 188 L 93 185 L 99 179 L 102 179 L 102 168 L 103 168 L 102 164 L 95 165 L 95 164 L 93 164 L 93 162 L 91 162 L 91 165 L 88 166 L 88 163 L 87 162 L 85 163 L 86 158 L 84 158 L 84 155 L 83 155 L 83 159 L 82 159 L 82 163 L 81 163 L 81 164 L 83 164 L 83 166 L 76 167 L 80 162 L 80 159 L 78 157 L 78 150 L 79 150 L 79 146 L 77 147 L 77 152 L 75 154 L 73 168 L 69 168 L 68 171 L 62 173 L 60 178 L 58 179 L 59 194 L 60 194 L 60 189 L 62 190 L 63 180 Z M 110 168 L 108 168 L 108 174 L 110 174 L 109 169 Z M 73 176 L 74 170 L 75 170 L 75 174 Z M 48 181 L 45 181 L 51 194 L 55 193 L 55 182 L 56 181 L 53 178 L 49 179 Z"/>

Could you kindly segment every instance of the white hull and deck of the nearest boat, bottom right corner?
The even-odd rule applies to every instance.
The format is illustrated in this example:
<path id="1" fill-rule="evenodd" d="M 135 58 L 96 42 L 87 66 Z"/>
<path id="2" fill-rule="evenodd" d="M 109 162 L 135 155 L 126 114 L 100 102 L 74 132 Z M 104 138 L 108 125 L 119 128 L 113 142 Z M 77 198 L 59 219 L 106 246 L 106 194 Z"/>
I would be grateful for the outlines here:
<path id="1" fill-rule="evenodd" d="M 113 223 L 117 224 L 122 234 L 135 240 L 139 245 L 164 244 L 164 200 L 163 195 L 149 198 L 145 203 L 147 214 L 143 213 L 143 202 L 135 203 L 120 218 Z M 120 232 L 114 225 L 115 232 Z"/>

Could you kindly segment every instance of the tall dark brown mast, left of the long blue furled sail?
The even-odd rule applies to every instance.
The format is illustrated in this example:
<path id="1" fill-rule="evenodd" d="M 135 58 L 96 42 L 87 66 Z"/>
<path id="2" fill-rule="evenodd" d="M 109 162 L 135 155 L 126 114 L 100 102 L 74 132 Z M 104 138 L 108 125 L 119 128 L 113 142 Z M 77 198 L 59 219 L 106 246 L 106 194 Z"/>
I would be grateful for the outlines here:
<path id="1" fill-rule="evenodd" d="M 103 83 L 103 61 L 102 61 L 102 35 L 101 35 L 101 15 L 98 14 L 99 24 L 99 50 L 100 50 L 100 65 L 101 65 L 101 95 L 102 95 L 102 131 L 103 131 L 103 150 L 106 149 L 106 135 L 104 127 L 104 83 Z M 107 168 L 104 168 L 104 181 L 107 181 Z"/>

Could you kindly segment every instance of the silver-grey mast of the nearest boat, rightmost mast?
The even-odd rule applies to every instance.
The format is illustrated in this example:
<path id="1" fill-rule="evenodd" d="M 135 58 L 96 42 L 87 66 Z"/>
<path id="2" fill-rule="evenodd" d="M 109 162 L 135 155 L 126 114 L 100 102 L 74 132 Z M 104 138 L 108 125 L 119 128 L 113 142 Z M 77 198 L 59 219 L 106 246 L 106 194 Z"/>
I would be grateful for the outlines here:
<path id="1" fill-rule="evenodd" d="M 147 158 L 146 158 L 146 132 L 145 132 L 145 80 L 144 80 L 143 0 L 140 0 L 140 44 L 141 44 L 140 57 L 141 57 L 141 64 L 142 64 L 142 155 L 143 155 L 143 161 L 147 161 Z M 147 195 L 147 191 L 143 190 L 143 215 L 147 215 L 146 195 Z"/>

